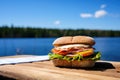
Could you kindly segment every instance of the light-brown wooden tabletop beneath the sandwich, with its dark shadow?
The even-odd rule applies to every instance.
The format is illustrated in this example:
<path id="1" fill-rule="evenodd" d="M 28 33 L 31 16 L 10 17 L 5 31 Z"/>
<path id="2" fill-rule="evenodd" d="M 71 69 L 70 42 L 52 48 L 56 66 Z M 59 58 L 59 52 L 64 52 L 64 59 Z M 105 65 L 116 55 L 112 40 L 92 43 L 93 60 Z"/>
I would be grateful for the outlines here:
<path id="1" fill-rule="evenodd" d="M 120 62 L 98 61 L 90 69 L 55 67 L 51 61 L 1 65 L 0 80 L 120 80 Z"/>

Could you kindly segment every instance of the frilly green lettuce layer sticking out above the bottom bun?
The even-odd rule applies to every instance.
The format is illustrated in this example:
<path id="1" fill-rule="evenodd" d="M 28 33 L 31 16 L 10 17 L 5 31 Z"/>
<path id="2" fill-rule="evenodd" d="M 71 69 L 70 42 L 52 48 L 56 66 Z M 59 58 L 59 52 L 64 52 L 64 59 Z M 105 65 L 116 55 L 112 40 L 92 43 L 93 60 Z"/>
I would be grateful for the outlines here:
<path id="1" fill-rule="evenodd" d="M 53 53 L 49 53 L 49 58 L 52 59 L 62 59 L 62 60 L 67 60 L 67 61 L 74 61 L 74 60 L 100 60 L 101 58 L 101 53 L 100 52 L 94 52 L 93 55 L 88 56 L 88 57 L 83 57 L 80 54 L 76 54 L 74 57 L 68 57 L 68 56 L 63 56 L 63 55 L 59 55 L 59 54 L 53 54 Z"/>

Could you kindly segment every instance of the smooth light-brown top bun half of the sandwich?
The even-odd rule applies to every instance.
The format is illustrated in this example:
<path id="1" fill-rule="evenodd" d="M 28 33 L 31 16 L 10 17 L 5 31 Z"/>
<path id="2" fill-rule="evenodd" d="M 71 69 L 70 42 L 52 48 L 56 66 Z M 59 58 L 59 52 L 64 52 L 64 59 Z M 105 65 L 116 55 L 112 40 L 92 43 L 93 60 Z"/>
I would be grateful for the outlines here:
<path id="1" fill-rule="evenodd" d="M 69 45 L 69 44 L 86 44 L 93 46 L 95 41 L 89 36 L 64 36 L 59 37 L 53 42 L 53 46 Z"/>

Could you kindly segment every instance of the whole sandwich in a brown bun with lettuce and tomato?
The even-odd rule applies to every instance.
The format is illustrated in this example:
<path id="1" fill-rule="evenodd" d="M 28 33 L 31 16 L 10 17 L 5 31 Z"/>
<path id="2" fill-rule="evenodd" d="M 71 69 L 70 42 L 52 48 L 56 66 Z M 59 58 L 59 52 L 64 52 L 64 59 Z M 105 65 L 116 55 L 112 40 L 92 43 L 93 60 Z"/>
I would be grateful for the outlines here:
<path id="1" fill-rule="evenodd" d="M 100 60 L 101 53 L 93 48 L 95 40 L 89 36 L 64 36 L 53 42 L 49 58 L 57 67 L 89 68 Z"/>

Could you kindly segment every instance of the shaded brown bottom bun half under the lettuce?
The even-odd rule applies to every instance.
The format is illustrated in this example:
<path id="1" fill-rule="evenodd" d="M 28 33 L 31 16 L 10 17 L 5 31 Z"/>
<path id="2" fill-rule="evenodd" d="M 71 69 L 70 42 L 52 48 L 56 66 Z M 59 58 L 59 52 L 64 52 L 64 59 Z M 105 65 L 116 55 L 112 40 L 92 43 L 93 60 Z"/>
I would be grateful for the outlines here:
<path id="1" fill-rule="evenodd" d="M 90 68 L 95 65 L 95 61 L 92 60 L 67 61 L 67 60 L 53 59 L 52 62 L 57 67 Z"/>

